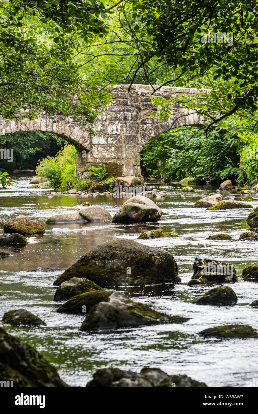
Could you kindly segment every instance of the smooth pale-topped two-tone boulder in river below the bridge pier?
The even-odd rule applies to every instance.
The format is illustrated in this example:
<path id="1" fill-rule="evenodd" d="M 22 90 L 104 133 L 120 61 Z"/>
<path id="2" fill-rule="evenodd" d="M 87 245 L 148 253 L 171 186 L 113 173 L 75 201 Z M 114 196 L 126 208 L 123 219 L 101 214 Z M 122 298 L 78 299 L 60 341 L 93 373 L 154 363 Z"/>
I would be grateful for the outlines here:
<path id="1" fill-rule="evenodd" d="M 154 201 L 142 195 L 136 195 L 124 202 L 112 218 L 113 223 L 158 221 L 162 211 Z"/>

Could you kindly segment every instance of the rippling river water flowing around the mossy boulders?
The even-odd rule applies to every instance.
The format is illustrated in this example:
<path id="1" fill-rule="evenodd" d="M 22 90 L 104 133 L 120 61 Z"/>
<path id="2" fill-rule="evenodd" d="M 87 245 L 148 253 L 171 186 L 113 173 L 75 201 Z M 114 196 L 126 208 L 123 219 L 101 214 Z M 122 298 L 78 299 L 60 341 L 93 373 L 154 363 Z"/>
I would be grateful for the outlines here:
<path id="1" fill-rule="evenodd" d="M 17 179 L 17 178 L 16 178 Z M 151 187 L 153 188 L 153 187 Z M 158 187 L 156 187 L 158 188 Z M 2 248 L 11 256 L 0 259 L 0 319 L 7 310 L 24 308 L 38 315 L 47 326 L 10 327 L 12 335 L 36 347 L 58 370 L 69 385 L 84 387 L 99 368 L 119 367 L 140 371 L 143 366 L 158 367 L 169 374 L 186 374 L 210 387 L 258 386 L 256 339 L 203 339 L 201 330 L 223 324 L 248 324 L 258 329 L 258 309 L 250 303 L 258 299 L 258 283 L 241 279 L 247 265 L 257 264 L 258 242 L 240 241 L 248 228 L 249 209 L 207 211 L 190 208 L 201 195 L 215 193 L 211 186 L 193 186 L 194 193 L 179 195 L 173 185 L 162 185 L 170 196 L 157 205 L 163 212 L 158 223 L 144 224 L 45 224 L 53 214 L 75 211 L 90 201 L 114 215 L 125 199 L 110 196 L 81 197 L 62 195 L 48 198 L 45 190 L 31 189 L 29 179 L 18 178 L 12 187 L 0 190 L 0 220 L 25 214 L 41 221 L 43 236 L 27 237 L 24 248 Z M 31 191 L 36 196 L 29 195 Z M 226 199 L 242 200 L 237 192 L 224 193 Z M 258 201 L 246 195 L 256 207 Z M 154 199 L 155 201 L 155 199 Z M 53 302 L 53 281 L 94 246 L 115 238 L 136 240 L 143 231 L 174 231 L 177 238 L 141 240 L 139 243 L 166 249 L 174 255 L 182 284 L 121 287 L 134 301 L 170 315 L 190 318 L 178 325 L 154 325 L 120 329 L 110 333 L 79 331 L 85 315 L 57 313 Z M 211 234 L 228 233 L 231 241 L 205 240 Z M 0 230 L 2 234 L 2 230 Z M 197 255 L 210 256 L 233 264 L 239 281 L 233 287 L 238 303 L 233 307 L 200 306 L 192 301 L 208 291 L 205 286 L 189 287 L 192 265 Z M 146 262 L 148 267 L 148 262 Z M 45 268 L 55 268 L 45 271 Z"/>

